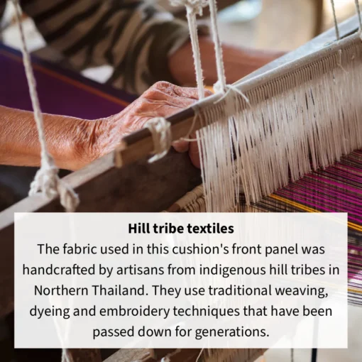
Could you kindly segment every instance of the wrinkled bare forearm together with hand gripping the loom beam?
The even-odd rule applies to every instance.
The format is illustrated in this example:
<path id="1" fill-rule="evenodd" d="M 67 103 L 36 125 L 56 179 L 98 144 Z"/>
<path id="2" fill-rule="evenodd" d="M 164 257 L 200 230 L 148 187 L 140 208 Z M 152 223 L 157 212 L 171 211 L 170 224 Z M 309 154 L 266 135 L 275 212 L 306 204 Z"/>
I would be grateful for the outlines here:
<path id="1" fill-rule="evenodd" d="M 124 111 L 106 119 L 87 121 L 68 116 L 44 114 L 48 150 L 59 168 L 77 170 L 114 150 L 121 138 L 142 128 L 155 117 L 167 117 L 197 100 L 197 90 L 158 82 Z M 33 112 L 0 106 L 0 164 L 40 166 L 40 143 Z M 178 151 L 187 143 L 174 145 Z M 199 165 L 196 143 L 190 156 Z"/>

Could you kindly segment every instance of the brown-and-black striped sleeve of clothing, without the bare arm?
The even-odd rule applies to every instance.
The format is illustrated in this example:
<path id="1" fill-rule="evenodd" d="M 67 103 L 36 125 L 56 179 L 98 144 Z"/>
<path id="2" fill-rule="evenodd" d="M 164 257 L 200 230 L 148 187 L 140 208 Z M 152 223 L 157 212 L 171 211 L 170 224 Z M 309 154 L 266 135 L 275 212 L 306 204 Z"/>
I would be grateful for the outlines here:
<path id="1" fill-rule="evenodd" d="M 0 18 L 6 0 L 0 0 Z M 109 83 L 141 94 L 158 80 L 175 83 L 168 55 L 189 38 L 187 23 L 140 0 L 21 0 L 51 48 L 77 69 L 114 67 Z"/>

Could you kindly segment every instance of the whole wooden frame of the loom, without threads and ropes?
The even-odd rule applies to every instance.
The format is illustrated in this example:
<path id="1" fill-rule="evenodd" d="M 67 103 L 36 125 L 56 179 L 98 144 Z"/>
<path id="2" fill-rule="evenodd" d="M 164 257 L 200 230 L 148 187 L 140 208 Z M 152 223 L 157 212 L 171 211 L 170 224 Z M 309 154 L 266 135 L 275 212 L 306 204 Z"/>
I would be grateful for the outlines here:
<path id="1" fill-rule="evenodd" d="M 358 31 L 357 17 L 353 17 L 339 27 L 341 38 L 349 38 Z M 301 57 L 321 50 L 326 44 L 335 40 L 334 29 L 319 35 L 294 52 L 266 65 L 252 75 L 243 79 L 246 87 L 258 83 L 258 75 L 270 72 L 285 65 L 295 66 Z M 326 50 L 322 50 L 328 52 Z M 276 70 L 278 71 L 278 70 Z M 218 95 L 210 97 L 212 102 Z M 192 109 L 170 117 L 172 136 L 178 139 L 190 129 L 194 118 Z M 200 125 L 196 124 L 196 128 Z M 170 153 L 157 163 L 149 164 L 147 156 L 153 150 L 153 143 L 148 130 L 138 131 L 124 138 L 124 145 L 114 153 L 94 161 L 83 170 L 73 172 L 65 177 L 67 183 L 75 188 L 81 203 L 78 212 L 161 212 L 179 211 L 175 202 L 186 192 L 201 183 L 199 170 L 194 168 L 187 154 Z M 106 187 L 104 187 L 106 185 Z M 175 206 L 176 205 L 176 206 Z M 182 209 L 182 207 L 180 207 Z M 14 212 L 62 212 L 58 199 L 47 200 L 41 196 L 27 197 L 21 202 L 0 213 L 0 316 L 13 310 L 13 213 Z M 171 353 L 171 350 L 155 350 L 148 353 L 141 351 L 137 358 L 145 361 L 159 360 L 170 355 L 172 361 L 195 361 L 199 350 L 182 350 Z M 100 361 L 97 351 L 75 350 L 75 361 L 82 361 L 86 353 L 86 361 Z M 243 350 L 237 354 L 239 361 L 250 361 L 257 358 L 262 350 Z M 92 360 L 89 356 L 93 356 Z M 243 358 L 241 359 L 241 356 Z M 134 356 L 133 356 L 134 357 Z"/>

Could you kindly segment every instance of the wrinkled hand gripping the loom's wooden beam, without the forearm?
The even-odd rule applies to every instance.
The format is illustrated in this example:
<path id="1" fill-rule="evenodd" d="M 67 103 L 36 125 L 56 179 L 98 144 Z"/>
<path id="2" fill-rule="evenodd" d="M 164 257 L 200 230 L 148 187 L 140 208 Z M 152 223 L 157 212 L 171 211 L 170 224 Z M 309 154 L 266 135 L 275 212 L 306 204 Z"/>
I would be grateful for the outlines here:
<path id="1" fill-rule="evenodd" d="M 206 95 L 212 94 L 205 91 Z M 94 138 L 89 151 L 84 153 L 89 162 L 111 152 L 119 145 L 121 138 L 143 128 L 153 117 L 168 117 L 191 106 L 198 99 L 197 89 L 177 87 L 168 82 L 158 82 L 150 87 L 135 102 L 130 104 L 121 113 L 107 119 L 100 119 L 89 126 L 94 129 Z M 174 143 L 175 150 L 190 153 L 192 163 L 199 167 L 199 151 L 196 142 L 180 141 Z M 87 149 L 87 148 L 85 148 Z"/>

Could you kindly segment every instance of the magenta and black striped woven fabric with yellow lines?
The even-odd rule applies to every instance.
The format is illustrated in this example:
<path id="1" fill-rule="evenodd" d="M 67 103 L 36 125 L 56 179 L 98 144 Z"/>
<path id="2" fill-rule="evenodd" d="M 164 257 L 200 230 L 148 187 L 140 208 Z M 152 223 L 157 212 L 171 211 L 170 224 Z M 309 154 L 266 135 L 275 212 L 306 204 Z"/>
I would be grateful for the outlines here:
<path id="1" fill-rule="evenodd" d="M 173 204 L 168 212 L 205 212 L 202 186 Z M 234 211 L 234 210 L 233 210 Z M 348 212 L 349 302 L 362 305 L 362 150 L 339 163 L 291 182 L 262 201 L 246 205 L 241 212 Z"/>

